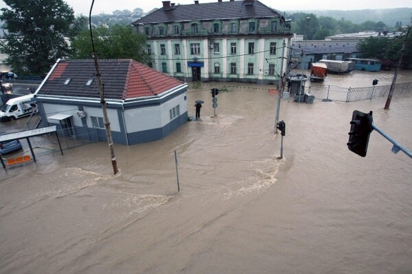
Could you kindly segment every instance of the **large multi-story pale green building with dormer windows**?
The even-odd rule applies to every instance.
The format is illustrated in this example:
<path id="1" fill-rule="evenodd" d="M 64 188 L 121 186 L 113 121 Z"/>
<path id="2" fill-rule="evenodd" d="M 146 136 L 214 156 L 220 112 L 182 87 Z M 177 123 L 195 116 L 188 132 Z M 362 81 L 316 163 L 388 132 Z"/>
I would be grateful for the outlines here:
<path id="1" fill-rule="evenodd" d="M 260 1 L 163 7 L 133 22 L 148 37 L 152 68 L 184 81 L 277 83 L 290 24 Z"/>

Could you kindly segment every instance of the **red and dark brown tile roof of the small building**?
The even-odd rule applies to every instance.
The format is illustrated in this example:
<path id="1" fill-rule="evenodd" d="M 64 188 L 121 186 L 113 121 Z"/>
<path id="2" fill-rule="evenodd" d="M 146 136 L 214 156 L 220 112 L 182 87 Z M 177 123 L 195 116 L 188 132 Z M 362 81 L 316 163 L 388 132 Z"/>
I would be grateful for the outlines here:
<path id="1" fill-rule="evenodd" d="M 159 95 L 183 82 L 131 59 L 99 60 L 105 99 L 133 99 Z M 37 95 L 99 98 L 93 60 L 60 60 Z M 90 86 L 87 82 L 93 79 Z M 68 84 L 65 82 L 69 81 Z"/>

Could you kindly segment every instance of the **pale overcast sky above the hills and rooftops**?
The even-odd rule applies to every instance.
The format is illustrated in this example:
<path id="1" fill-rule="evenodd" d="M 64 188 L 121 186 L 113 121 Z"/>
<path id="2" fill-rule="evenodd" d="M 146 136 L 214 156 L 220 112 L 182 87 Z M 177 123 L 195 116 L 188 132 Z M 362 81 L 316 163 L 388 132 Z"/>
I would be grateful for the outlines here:
<path id="1" fill-rule="evenodd" d="M 199 0 L 199 3 L 210 3 L 217 1 L 218 0 Z M 66 2 L 71 6 L 71 8 L 73 8 L 75 14 L 89 15 L 92 0 L 66 0 Z M 176 3 L 176 5 L 187 5 L 194 3 L 193 0 L 176 0 L 171 2 Z M 411 0 L 260 0 L 260 2 L 279 11 L 412 8 Z M 102 12 L 111 14 L 114 10 L 134 10 L 135 8 L 141 8 L 144 12 L 149 12 L 154 8 L 161 8 L 161 6 L 161 0 L 95 0 L 92 14 L 100 14 Z M 2 0 L 0 0 L 0 7 L 5 7 L 5 3 Z"/>

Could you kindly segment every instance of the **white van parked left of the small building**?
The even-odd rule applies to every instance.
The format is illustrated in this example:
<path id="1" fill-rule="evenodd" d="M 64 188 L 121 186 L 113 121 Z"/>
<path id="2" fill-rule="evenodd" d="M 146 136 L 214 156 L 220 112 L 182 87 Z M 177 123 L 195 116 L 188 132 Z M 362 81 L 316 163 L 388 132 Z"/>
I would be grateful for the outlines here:
<path id="1" fill-rule="evenodd" d="M 32 114 L 36 109 L 37 103 L 33 95 L 12 98 L 1 108 L 0 121 L 13 121 L 14 119 Z"/>

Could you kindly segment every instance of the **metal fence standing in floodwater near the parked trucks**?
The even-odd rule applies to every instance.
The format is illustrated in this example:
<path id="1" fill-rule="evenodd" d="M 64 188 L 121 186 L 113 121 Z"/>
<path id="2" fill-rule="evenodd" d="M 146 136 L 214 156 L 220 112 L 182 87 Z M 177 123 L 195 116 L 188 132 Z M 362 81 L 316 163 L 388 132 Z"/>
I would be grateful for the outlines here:
<path id="1" fill-rule="evenodd" d="M 366 88 L 340 88 L 337 86 L 310 86 L 305 92 L 314 95 L 318 100 L 353 102 L 366 99 L 385 97 L 389 94 L 391 85 Z M 393 95 L 412 93 L 412 82 L 396 84 Z"/>

